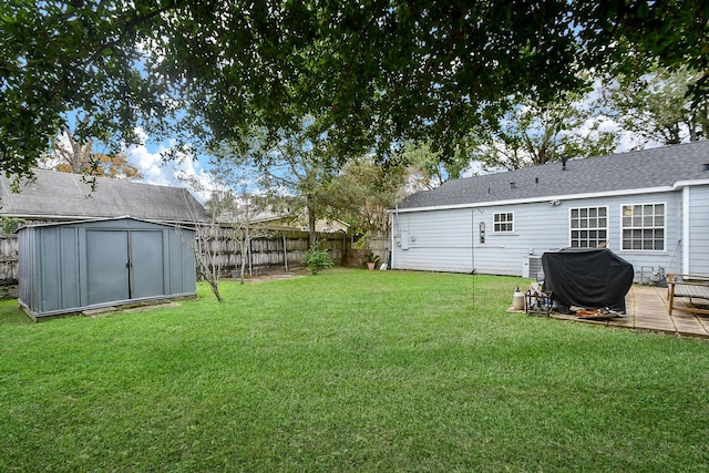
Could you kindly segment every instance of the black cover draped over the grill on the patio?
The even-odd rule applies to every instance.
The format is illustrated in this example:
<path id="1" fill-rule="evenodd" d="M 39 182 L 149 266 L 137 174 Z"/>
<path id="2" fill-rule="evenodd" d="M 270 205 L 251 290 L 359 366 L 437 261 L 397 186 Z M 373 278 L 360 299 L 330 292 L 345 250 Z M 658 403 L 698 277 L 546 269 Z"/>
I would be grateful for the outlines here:
<path id="1" fill-rule="evenodd" d="M 633 265 L 607 248 L 567 248 L 542 255 L 544 290 L 564 306 L 625 312 Z"/>

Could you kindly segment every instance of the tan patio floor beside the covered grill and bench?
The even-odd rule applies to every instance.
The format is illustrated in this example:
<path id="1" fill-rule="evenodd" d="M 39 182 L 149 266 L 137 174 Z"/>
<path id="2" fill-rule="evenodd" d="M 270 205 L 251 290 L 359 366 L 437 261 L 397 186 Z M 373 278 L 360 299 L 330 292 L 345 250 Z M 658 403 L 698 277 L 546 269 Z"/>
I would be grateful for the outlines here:
<path id="1" fill-rule="evenodd" d="M 555 319 L 659 331 L 686 337 L 709 338 L 709 316 L 695 316 L 686 310 L 687 299 L 675 299 L 672 315 L 668 313 L 667 288 L 633 285 L 625 297 L 626 316 L 609 320 L 583 320 L 576 316 L 552 312 Z"/>

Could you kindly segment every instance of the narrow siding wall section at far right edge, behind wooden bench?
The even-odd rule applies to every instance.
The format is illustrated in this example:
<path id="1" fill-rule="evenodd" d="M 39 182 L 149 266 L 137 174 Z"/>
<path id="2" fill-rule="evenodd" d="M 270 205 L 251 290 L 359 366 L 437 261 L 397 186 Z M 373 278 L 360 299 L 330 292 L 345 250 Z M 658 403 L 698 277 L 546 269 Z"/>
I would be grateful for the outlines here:
<path id="1" fill-rule="evenodd" d="M 689 268 L 682 273 L 709 275 L 709 186 L 695 186 L 689 192 Z"/>

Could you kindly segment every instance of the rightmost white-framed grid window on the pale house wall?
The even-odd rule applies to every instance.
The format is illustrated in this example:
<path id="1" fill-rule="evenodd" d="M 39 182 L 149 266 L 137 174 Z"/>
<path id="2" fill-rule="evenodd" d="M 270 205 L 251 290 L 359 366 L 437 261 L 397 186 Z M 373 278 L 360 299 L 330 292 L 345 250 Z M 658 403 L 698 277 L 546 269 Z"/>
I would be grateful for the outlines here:
<path id="1" fill-rule="evenodd" d="M 665 250 L 665 204 L 623 206 L 623 248 Z"/>

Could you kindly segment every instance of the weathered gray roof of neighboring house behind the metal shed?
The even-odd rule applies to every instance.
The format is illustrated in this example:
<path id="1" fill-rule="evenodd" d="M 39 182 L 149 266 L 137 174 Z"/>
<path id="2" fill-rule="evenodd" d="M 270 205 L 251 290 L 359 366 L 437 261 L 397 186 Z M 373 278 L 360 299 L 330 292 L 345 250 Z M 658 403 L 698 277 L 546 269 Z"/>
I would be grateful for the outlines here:
<path id="1" fill-rule="evenodd" d="M 23 182 L 20 193 L 0 176 L 0 214 L 39 220 L 113 218 L 193 223 L 206 219 L 202 204 L 187 191 L 96 177 L 95 191 L 81 175 L 34 169 L 35 179 Z"/>

